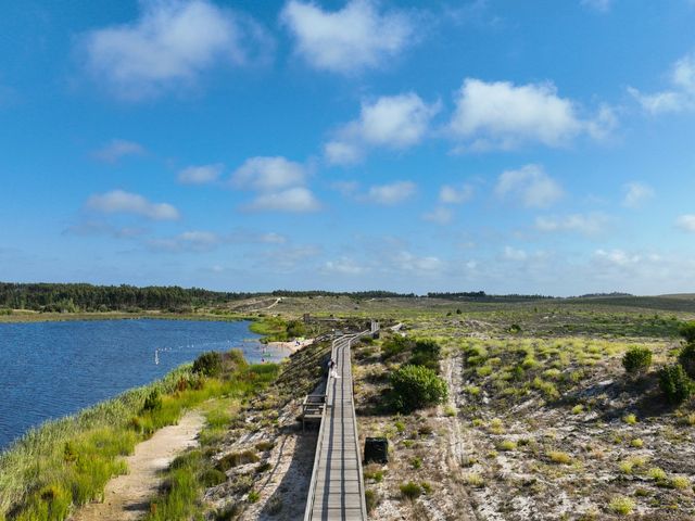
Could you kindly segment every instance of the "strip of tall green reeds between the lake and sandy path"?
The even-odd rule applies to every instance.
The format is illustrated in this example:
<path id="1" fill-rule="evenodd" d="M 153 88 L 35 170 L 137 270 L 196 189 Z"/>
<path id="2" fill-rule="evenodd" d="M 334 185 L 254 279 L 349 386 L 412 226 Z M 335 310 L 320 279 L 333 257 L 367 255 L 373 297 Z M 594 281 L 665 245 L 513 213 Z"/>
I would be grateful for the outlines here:
<path id="1" fill-rule="evenodd" d="M 0 521 L 66 519 L 76 506 L 102 498 L 106 482 L 127 472 L 121 457 L 176 423 L 185 409 L 212 397 L 242 398 L 277 372 L 275 365 L 248 365 L 238 351 L 216 360 L 212 368 L 182 366 L 157 382 L 29 431 L 0 455 Z"/>

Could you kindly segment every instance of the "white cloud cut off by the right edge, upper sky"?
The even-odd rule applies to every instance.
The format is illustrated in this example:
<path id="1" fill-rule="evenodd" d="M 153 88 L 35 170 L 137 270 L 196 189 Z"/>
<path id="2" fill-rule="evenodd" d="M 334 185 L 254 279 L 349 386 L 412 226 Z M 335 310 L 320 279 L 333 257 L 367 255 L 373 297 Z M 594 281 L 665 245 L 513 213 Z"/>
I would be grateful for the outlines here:
<path id="1" fill-rule="evenodd" d="M 630 87 L 628 91 L 652 114 L 695 110 L 695 53 L 686 54 L 671 67 L 671 89 L 646 94 Z"/>

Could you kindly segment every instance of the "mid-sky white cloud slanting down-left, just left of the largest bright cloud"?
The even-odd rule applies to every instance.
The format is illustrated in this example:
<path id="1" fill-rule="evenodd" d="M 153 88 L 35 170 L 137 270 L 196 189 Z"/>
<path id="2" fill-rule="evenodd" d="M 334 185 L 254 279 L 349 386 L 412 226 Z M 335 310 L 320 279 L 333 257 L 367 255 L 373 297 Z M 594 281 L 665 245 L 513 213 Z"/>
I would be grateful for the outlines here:
<path id="1" fill-rule="evenodd" d="M 331 164 L 358 162 L 370 147 L 403 150 L 426 136 L 440 103 L 428 104 L 414 92 L 363 102 L 359 118 L 344 125 L 324 149 Z"/>

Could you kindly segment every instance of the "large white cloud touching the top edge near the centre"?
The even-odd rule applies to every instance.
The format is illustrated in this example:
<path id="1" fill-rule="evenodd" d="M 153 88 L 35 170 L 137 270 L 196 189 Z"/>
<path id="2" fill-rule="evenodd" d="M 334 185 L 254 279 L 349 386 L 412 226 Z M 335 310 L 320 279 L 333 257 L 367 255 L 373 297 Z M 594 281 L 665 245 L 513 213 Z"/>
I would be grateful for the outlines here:
<path id="1" fill-rule="evenodd" d="M 280 18 L 294 36 L 296 53 L 332 73 L 379 67 L 413 41 L 413 21 L 400 12 L 379 13 L 371 0 L 351 0 L 333 12 L 290 0 Z"/>

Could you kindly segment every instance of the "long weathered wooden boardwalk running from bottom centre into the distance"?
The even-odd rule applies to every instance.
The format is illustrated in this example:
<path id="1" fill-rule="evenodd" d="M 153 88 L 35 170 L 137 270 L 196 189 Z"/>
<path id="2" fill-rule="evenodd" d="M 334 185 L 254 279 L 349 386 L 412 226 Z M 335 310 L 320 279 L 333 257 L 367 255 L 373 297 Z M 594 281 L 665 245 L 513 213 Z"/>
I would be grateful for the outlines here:
<path id="1" fill-rule="evenodd" d="M 365 485 L 352 394 L 350 346 L 359 335 L 333 341 L 340 378 L 328 377 L 305 521 L 365 521 Z"/>

